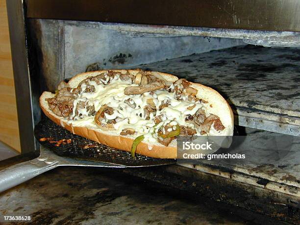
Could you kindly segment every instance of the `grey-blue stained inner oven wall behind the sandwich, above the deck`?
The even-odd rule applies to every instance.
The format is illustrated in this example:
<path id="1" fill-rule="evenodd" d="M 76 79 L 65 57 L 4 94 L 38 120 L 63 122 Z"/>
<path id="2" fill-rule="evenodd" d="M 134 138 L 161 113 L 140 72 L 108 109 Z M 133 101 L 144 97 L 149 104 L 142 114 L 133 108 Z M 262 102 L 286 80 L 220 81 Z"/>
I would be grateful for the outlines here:
<path id="1" fill-rule="evenodd" d="M 124 28 L 124 25 L 123 27 Z M 29 20 L 41 91 L 89 70 L 136 68 L 194 53 L 245 45 L 239 39 L 125 31 L 101 23 Z"/>

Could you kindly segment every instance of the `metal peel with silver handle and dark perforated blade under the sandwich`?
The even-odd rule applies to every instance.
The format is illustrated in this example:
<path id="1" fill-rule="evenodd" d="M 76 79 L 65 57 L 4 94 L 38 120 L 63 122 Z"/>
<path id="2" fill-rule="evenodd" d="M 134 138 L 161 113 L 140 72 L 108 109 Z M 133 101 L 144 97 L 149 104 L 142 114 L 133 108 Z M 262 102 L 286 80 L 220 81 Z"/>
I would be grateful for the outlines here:
<path id="1" fill-rule="evenodd" d="M 69 139 L 72 141 L 65 145 L 41 141 L 42 146 L 38 158 L 0 171 L 0 192 L 58 166 L 125 168 L 168 165 L 176 162 L 175 159 L 158 159 L 143 155 L 136 155 L 133 158 L 130 152 L 116 150 L 72 134 L 48 118 L 35 126 L 34 135 L 38 140 L 51 137 L 51 140 L 53 138 L 53 140 Z M 85 147 L 88 148 L 85 149 Z"/>

